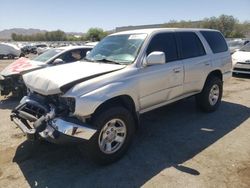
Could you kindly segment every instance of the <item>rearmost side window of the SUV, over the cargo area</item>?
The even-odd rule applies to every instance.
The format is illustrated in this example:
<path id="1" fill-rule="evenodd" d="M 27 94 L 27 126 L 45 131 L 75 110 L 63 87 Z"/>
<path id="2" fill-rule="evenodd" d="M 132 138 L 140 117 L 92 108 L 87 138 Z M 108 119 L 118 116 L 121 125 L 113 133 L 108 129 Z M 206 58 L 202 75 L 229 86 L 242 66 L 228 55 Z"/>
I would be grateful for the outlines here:
<path id="1" fill-rule="evenodd" d="M 227 43 L 220 32 L 201 31 L 201 34 L 207 40 L 213 53 L 220 53 L 228 50 Z"/>

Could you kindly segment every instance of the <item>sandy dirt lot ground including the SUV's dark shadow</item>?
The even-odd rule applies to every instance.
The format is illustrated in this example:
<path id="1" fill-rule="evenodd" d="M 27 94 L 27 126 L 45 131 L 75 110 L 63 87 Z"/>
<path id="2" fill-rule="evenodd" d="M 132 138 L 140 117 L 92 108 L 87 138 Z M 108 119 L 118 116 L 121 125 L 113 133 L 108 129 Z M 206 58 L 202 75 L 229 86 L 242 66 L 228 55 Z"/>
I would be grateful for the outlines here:
<path id="1" fill-rule="evenodd" d="M 9 61 L 0 61 L 0 70 Z M 119 162 L 100 167 L 72 146 L 31 143 L 0 103 L 0 187 L 250 187 L 250 76 L 224 85 L 205 114 L 194 98 L 147 113 Z"/>

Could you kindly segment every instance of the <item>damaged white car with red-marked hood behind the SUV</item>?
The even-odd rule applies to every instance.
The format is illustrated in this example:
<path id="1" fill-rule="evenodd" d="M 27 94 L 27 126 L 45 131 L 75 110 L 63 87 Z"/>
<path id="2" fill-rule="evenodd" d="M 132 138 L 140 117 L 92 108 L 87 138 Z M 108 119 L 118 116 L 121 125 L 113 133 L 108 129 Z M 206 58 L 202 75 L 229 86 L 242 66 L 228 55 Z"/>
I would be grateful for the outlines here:
<path id="1" fill-rule="evenodd" d="M 26 93 L 26 86 L 22 80 L 23 74 L 48 66 L 81 60 L 93 47 L 93 45 L 85 45 L 53 48 L 33 59 L 19 58 L 0 73 L 1 95 L 12 92 L 14 96 L 23 96 Z"/>

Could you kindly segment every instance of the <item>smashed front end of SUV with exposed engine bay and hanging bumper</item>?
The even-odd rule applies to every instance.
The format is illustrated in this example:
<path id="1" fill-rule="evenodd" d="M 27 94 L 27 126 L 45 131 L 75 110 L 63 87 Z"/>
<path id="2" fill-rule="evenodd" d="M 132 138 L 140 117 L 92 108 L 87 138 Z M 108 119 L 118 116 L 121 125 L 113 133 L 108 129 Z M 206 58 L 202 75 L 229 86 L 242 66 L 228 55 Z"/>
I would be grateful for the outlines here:
<path id="1" fill-rule="evenodd" d="M 10 117 L 27 139 L 43 138 L 53 143 L 89 140 L 96 129 L 71 116 L 73 110 L 72 98 L 30 94 L 23 97 Z"/>

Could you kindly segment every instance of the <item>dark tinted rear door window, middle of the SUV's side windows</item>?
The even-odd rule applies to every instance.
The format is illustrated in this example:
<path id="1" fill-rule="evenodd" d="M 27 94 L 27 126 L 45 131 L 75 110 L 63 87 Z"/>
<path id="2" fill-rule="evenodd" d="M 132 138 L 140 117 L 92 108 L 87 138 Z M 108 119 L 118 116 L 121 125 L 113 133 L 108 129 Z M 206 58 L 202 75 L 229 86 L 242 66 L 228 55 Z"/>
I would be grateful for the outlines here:
<path id="1" fill-rule="evenodd" d="M 192 58 L 205 55 L 204 47 L 199 37 L 193 32 L 180 32 L 180 50 L 182 58 Z"/>

